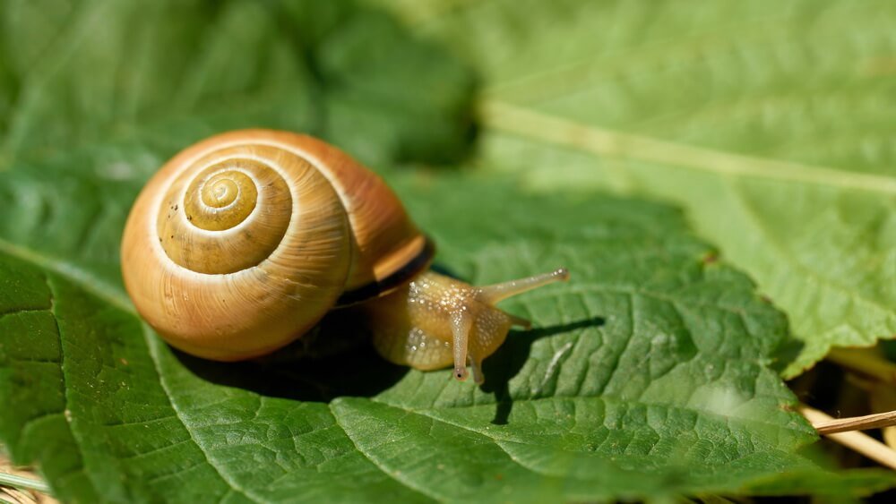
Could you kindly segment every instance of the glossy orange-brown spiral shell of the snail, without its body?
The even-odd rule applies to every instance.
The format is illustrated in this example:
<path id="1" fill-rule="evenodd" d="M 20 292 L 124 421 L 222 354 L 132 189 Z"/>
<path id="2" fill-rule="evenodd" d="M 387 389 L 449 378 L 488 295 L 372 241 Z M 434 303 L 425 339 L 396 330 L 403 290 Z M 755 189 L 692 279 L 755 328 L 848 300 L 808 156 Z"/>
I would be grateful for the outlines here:
<path id="1" fill-rule="evenodd" d="M 232 361 L 288 344 L 425 242 L 382 180 L 338 149 L 247 130 L 185 149 L 151 179 L 125 226 L 122 271 L 168 343 Z"/>

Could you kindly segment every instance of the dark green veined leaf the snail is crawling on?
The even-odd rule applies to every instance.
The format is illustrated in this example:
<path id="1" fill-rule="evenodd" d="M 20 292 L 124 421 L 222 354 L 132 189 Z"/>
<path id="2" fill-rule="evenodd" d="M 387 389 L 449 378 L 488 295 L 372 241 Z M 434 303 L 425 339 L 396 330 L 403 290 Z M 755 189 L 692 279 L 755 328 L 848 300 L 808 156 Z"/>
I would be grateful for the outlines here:
<path id="1" fill-rule="evenodd" d="M 769 367 L 786 320 L 674 210 L 392 178 L 444 243 L 441 268 L 483 283 L 573 269 L 572 283 L 506 303 L 537 329 L 486 361 L 483 389 L 368 346 L 204 362 L 162 343 L 89 266 L 78 277 L 39 243 L 6 244 L 0 435 L 15 459 L 38 460 L 76 501 L 648 499 L 896 483 L 798 455 L 814 431 Z M 81 196 L 55 204 L 72 213 Z"/>

